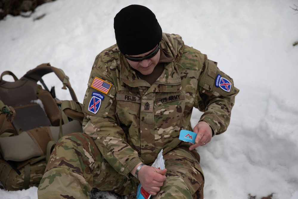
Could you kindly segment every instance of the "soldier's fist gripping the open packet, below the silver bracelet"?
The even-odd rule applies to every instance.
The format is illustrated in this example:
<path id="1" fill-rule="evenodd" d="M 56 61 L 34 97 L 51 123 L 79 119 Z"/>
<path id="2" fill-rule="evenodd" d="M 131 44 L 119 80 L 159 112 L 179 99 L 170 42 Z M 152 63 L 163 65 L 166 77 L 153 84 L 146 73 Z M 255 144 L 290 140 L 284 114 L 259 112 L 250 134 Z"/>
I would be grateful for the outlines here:
<path id="1" fill-rule="evenodd" d="M 144 165 L 139 170 L 138 178 L 145 191 L 151 195 L 156 195 L 166 179 L 167 169 L 157 169 L 153 166 Z"/>

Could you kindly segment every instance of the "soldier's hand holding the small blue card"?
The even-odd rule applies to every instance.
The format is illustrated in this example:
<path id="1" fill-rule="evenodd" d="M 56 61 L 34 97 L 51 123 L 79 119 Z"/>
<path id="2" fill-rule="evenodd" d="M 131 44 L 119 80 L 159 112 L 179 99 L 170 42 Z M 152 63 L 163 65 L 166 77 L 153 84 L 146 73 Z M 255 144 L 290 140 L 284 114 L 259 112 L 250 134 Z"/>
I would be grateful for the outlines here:
<path id="1" fill-rule="evenodd" d="M 197 137 L 195 138 L 195 144 L 190 143 L 190 151 L 197 148 L 198 146 L 204 146 L 211 141 L 212 129 L 207 122 L 198 122 L 198 124 L 193 128 L 193 132 L 197 134 Z"/>

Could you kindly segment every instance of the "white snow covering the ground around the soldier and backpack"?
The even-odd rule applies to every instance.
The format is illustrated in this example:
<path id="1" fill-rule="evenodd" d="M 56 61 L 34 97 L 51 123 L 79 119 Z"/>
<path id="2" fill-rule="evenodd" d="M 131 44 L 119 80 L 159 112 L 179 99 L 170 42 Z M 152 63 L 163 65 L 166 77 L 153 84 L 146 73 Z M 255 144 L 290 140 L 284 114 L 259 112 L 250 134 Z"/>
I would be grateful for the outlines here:
<path id="1" fill-rule="evenodd" d="M 116 43 L 114 16 L 136 3 L 156 14 L 163 32 L 181 35 L 217 61 L 240 89 L 228 130 L 197 148 L 204 197 L 260 199 L 273 193 L 272 199 L 297 199 L 298 46 L 292 44 L 298 41 L 298 15 L 290 8 L 297 0 L 57 0 L 29 18 L 0 21 L 0 72 L 11 70 L 20 78 L 50 63 L 69 76 L 83 102 L 95 56 Z M 58 98 L 70 99 L 54 78 L 49 74 L 44 81 L 55 86 Z M 193 112 L 192 124 L 200 115 Z M 37 188 L 0 195 L 35 199 Z"/>

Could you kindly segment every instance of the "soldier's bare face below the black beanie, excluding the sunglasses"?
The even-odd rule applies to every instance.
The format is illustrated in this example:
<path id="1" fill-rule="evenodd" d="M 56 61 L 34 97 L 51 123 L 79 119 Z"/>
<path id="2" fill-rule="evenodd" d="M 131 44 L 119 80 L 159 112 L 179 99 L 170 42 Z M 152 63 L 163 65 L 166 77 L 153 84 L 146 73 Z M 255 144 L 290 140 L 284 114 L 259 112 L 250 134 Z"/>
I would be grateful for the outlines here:
<path id="1" fill-rule="evenodd" d="M 158 46 L 157 46 L 158 47 Z M 159 58 L 160 58 L 160 49 L 156 49 L 157 47 L 155 47 L 154 49 L 150 50 L 147 53 L 143 53 L 140 55 L 127 55 L 126 57 L 130 57 L 130 58 L 142 58 L 142 57 L 150 57 L 151 53 L 155 53 L 154 51 L 157 50 L 156 55 L 154 55 L 153 57 L 150 57 L 148 59 L 144 59 L 141 61 L 131 61 L 129 60 L 129 58 L 126 58 L 128 64 L 135 70 L 138 70 L 140 73 L 142 73 L 143 75 L 149 75 L 153 72 L 153 69 L 156 67 L 156 65 L 158 64 Z"/>

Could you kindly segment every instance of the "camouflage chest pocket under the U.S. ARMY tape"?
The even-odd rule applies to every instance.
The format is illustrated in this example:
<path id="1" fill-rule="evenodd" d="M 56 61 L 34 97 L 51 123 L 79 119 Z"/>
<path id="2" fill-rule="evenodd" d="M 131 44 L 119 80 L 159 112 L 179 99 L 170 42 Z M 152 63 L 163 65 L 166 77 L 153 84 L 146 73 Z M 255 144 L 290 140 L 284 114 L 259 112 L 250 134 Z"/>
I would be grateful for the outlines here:
<path id="1" fill-rule="evenodd" d="M 183 127 L 185 109 L 184 91 L 156 93 L 155 101 L 154 119 L 160 134 L 162 132 L 168 133 L 172 130 L 181 130 L 180 127 Z M 176 129 L 177 127 L 179 129 Z"/>

